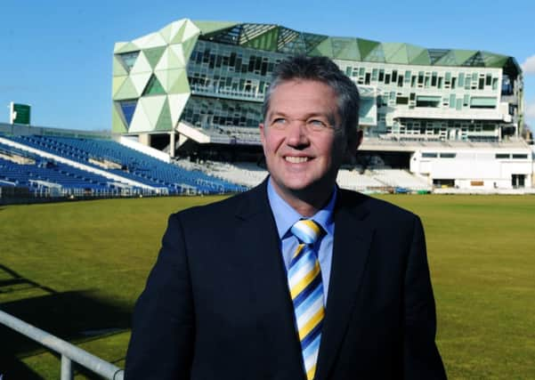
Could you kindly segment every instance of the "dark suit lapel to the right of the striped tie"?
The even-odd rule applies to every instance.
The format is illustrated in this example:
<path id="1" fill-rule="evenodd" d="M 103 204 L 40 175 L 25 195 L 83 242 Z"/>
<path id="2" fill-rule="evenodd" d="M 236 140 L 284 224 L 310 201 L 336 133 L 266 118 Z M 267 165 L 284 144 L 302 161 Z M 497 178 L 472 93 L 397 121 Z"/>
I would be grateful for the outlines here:
<path id="1" fill-rule="evenodd" d="M 334 364 L 352 318 L 373 236 L 365 222 L 368 210 L 362 206 L 364 197 L 352 197 L 350 201 L 343 190 L 338 196 L 327 309 L 315 379 L 328 378 Z"/>

